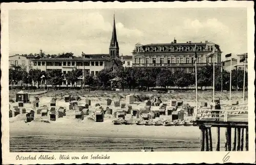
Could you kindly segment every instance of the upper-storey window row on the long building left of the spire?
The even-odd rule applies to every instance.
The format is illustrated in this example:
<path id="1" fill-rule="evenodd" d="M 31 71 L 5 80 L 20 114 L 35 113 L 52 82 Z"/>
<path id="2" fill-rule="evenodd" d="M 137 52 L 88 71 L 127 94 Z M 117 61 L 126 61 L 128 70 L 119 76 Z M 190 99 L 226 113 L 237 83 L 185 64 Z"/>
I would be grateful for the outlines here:
<path id="1" fill-rule="evenodd" d="M 46 62 L 34 61 L 34 66 L 75 66 L 75 62 Z M 91 65 L 90 65 L 91 64 Z M 103 61 L 76 62 L 76 66 L 103 66 Z"/>

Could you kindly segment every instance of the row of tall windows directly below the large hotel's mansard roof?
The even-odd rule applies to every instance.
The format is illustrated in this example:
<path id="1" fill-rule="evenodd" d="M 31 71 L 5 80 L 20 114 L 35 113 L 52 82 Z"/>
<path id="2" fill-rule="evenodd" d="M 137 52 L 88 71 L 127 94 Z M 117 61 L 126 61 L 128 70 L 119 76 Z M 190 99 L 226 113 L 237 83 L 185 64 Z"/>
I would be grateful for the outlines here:
<path id="1" fill-rule="evenodd" d="M 161 64 L 165 63 L 164 61 L 165 61 L 164 57 L 160 57 L 160 63 Z M 167 58 L 167 63 L 192 63 L 192 62 L 194 62 L 194 57 L 191 57 L 191 61 L 190 61 L 190 57 L 185 57 L 185 59 L 184 59 L 184 57 L 168 57 Z M 198 57 L 197 58 L 197 62 L 201 63 L 202 62 L 202 58 Z M 144 63 L 143 62 L 143 58 L 135 58 L 135 63 L 137 63 L 137 64 Z M 146 64 L 151 63 L 149 57 L 145 58 L 145 63 Z M 156 57 L 152 58 L 152 63 L 157 63 L 157 58 Z"/>

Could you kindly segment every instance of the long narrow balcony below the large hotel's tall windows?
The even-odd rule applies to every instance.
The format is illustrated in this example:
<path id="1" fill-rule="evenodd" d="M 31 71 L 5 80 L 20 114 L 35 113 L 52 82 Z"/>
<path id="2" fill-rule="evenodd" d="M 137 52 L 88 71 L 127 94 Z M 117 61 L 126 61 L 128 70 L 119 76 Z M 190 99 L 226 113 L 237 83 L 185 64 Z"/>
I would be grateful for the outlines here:
<path id="1" fill-rule="evenodd" d="M 205 66 L 207 63 L 197 63 L 197 66 Z M 221 64 L 216 64 L 216 65 L 221 65 Z M 146 64 L 146 63 L 133 63 L 134 67 L 192 67 L 195 66 L 195 63 L 150 63 L 150 64 Z"/>

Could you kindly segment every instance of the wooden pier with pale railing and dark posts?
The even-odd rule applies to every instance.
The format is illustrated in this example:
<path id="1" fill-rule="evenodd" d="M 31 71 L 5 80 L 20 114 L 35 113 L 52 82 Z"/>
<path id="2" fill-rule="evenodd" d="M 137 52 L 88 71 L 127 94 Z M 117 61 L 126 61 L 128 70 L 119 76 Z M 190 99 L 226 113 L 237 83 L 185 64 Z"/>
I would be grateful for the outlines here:
<path id="1" fill-rule="evenodd" d="M 195 111 L 193 117 L 194 126 L 201 130 L 201 151 L 212 151 L 212 127 L 217 128 L 216 151 L 220 151 L 220 128 L 226 129 L 225 151 L 243 151 L 244 136 L 245 150 L 248 151 L 248 104 L 223 106 L 220 110 L 203 107 Z"/>

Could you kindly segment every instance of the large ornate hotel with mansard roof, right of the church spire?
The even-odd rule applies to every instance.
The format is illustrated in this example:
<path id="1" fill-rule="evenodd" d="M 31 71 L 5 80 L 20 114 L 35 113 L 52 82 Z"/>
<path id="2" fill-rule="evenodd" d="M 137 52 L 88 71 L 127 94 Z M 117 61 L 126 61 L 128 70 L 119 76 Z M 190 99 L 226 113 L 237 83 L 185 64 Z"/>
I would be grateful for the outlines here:
<path id="1" fill-rule="evenodd" d="M 172 72 L 184 69 L 188 73 L 195 72 L 195 45 L 198 69 L 207 63 L 214 63 L 214 59 L 207 54 L 215 50 L 215 64 L 221 65 L 221 50 L 218 44 L 212 42 L 177 43 L 174 39 L 170 43 L 151 43 L 142 45 L 137 43 L 133 51 L 133 67 L 166 67 Z"/>

